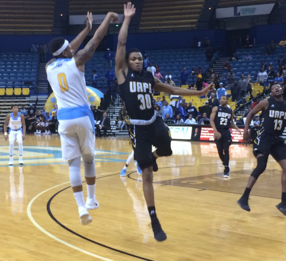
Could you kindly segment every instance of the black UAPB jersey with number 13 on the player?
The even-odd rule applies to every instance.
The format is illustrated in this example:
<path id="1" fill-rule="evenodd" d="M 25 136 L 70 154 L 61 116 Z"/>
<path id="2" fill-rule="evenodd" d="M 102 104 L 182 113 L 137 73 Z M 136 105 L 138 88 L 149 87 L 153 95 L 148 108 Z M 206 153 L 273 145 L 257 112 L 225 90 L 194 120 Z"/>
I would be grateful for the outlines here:
<path id="1" fill-rule="evenodd" d="M 286 101 L 277 102 L 275 98 L 268 99 L 268 107 L 260 116 L 261 129 L 273 136 L 281 136 L 286 126 Z"/>

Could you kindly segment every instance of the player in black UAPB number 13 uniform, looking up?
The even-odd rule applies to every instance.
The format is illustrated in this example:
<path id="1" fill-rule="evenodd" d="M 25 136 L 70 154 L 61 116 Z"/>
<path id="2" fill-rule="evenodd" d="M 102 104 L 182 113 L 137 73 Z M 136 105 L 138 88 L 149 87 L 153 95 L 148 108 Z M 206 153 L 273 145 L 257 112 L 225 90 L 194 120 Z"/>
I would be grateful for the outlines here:
<path id="1" fill-rule="evenodd" d="M 250 211 L 248 205 L 249 193 L 257 181 L 259 175 L 265 171 L 269 154 L 282 168 L 282 195 L 281 203 L 276 207 L 286 215 L 286 144 L 280 137 L 286 126 L 286 101 L 283 100 L 283 90 L 279 84 L 271 87 L 271 97 L 259 102 L 247 115 L 243 143 L 249 143 L 249 124 L 255 114 L 262 111 L 261 128 L 253 143 L 253 154 L 257 159 L 257 166 L 249 177 L 242 197 L 237 201 L 241 208 Z"/>

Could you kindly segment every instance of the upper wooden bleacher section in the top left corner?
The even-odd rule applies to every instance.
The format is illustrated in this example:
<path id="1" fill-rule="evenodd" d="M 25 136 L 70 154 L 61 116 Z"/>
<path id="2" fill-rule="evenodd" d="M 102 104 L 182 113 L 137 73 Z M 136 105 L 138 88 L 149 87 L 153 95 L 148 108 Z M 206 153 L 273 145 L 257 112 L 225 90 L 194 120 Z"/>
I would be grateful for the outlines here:
<path id="1" fill-rule="evenodd" d="M 52 33 L 55 0 L 0 1 L 0 33 Z"/>

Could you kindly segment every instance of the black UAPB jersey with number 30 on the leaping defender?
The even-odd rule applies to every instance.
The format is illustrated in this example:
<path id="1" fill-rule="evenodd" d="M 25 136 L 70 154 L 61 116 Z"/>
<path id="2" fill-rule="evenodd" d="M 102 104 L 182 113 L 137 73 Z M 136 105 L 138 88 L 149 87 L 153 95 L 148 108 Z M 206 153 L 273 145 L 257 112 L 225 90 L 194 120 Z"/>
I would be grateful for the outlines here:
<path id="1" fill-rule="evenodd" d="M 124 101 L 130 120 L 137 125 L 140 120 L 150 120 L 154 112 L 152 89 L 154 87 L 154 76 L 150 72 L 133 72 L 128 69 L 125 82 L 119 85 L 122 99 Z M 144 125 L 138 123 L 138 125 Z"/>

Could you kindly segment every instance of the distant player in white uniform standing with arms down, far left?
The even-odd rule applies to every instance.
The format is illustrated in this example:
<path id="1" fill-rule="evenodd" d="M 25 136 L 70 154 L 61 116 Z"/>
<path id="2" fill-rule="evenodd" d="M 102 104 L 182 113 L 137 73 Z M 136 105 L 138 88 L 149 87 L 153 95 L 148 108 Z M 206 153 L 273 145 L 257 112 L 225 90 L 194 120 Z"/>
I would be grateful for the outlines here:
<path id="1" fill-rule="evenodd" d="M 7 114 L 4 122 L 4 137 L 5 140 L 8 140 L 7 134 L 7 125 L 9 123 L 9 154 L 10 161 L 9 166 L 13 165 L 13 151 L 14 151 L 14 142 L 17 140 L 19 144 L 19 164 L 24 165 L 23 162 L 23 140 L 25 139 L 26 125 L 24 115 L 21 112 L 18 112 L 18 105 L 12 105 L 12 112 Z M 23 127 L 23 128 L 22 128 Z"/>

